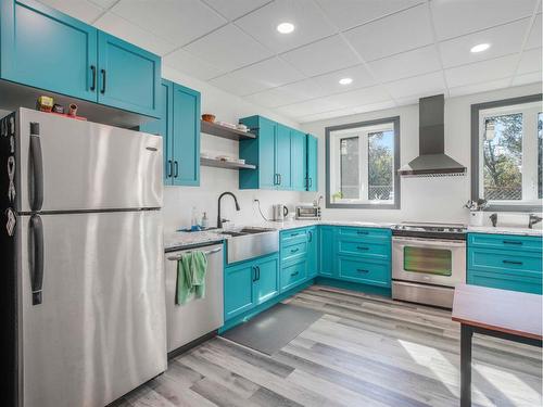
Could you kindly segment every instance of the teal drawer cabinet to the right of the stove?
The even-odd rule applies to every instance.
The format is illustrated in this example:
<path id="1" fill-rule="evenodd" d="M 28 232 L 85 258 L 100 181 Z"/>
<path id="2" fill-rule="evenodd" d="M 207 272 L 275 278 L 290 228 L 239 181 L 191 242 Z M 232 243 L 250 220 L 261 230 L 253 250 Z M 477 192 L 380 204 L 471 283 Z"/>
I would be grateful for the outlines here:
<path id="1" fill-rule="evenodd" d="M 508 234 L 468 234 L 467 282 L 542 294 L 542 239 Z"/>

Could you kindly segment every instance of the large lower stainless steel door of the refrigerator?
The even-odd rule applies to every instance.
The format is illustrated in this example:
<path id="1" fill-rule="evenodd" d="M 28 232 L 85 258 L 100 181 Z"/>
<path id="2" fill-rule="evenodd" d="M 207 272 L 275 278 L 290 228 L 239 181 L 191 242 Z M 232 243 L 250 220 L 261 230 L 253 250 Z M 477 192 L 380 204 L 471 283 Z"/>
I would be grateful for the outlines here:
<path id="1" fill-rule="evenodd" d="M 21 405 L 101 407 L 164 371 L 161 213 L 33 216 L 38 231 L 18 218 Z"/>

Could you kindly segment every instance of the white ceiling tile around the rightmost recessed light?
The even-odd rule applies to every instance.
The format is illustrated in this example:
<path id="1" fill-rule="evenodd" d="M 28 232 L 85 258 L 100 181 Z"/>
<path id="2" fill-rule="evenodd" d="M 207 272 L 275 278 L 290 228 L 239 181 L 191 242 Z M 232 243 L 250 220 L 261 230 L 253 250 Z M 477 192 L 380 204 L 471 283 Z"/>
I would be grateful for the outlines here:
<path id="1" fill-rule="evenodd" d="M 445 68 L 520 52 L 530 18 L 440 42 Z M 472 53 L 471 47 L 490 43 L 487 51 Z"/>

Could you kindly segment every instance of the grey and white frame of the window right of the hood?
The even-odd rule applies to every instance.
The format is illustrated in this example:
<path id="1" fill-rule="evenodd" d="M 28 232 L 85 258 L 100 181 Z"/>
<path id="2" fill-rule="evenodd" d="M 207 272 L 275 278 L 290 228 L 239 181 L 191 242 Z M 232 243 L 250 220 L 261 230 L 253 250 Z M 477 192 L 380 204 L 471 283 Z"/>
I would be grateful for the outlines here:
<path id="1" fill-rule="evenodd" d="M 520 104 L 528 103 L 541 103 L 543 100 L 542 93 L 530 94 L 526 97 L 519 98 L 510 98 L 503 99 L 493 102 L 484 102 L 477 103 L 471 105 L 471 200 L 476 201 L 481 196 L 481 189 L 483 188 L 483 182 L 481 180 L 481 168 L 482 168 L 482 143 L 481 143 L 481 129 L 482 123 L 484 122 L 484 117 L 481 115 L 481 111 L 487 110 L 503 110 L 504 112 L 508 111 L 510 107 L 510 112 Z M 509 112 L 506 114 L 510 114 Z M 522 123 L 525 119 L 522 118 Z M 534 124 L 535 130 L 538 129 L 538 124 Z M 523 128 L 522 128 L 523 130 Z M 535 140 L 538 139 L 538 135 L 535 133 Z M 522 164 L 525 163 L 525 137 L 522 137 Z M 536 164 L 538 165 L 538 164 Z M 523 174 L 522 174 L 523 175 Z M 525 185 L 522 183 L 522 192 Z M 493 211 L 493 212 L 533 212 L 541 211 L 541 203 L 527 203 L 527 201 L 490 201 L 489 206 L 484 211 Z"/>

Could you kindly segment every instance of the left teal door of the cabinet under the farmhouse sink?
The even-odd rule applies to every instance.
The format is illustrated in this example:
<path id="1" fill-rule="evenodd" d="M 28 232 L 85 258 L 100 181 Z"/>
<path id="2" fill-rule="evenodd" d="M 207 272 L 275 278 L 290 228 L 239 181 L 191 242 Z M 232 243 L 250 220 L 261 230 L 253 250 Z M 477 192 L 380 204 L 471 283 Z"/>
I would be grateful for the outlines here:
<path id="1" fill-rule="evenodd" d="M 253 307 L 253 281 L 256 269 L 252 263 L 225 268 L 225 320 Z"/>

